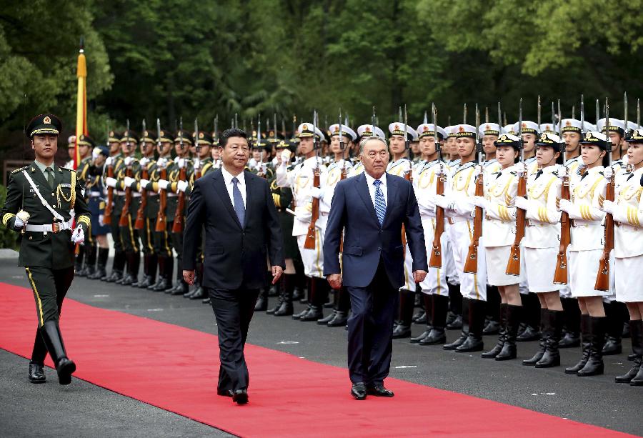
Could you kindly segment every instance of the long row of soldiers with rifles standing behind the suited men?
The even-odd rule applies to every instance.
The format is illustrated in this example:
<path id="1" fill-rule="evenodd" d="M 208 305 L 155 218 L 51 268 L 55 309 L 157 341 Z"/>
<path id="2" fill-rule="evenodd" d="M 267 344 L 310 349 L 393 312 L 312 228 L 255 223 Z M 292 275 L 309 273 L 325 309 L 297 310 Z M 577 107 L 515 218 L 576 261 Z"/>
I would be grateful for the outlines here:
<path id="1" fill-rule="evenodd" d="M 422 284 L 413 282 L 412 258 L 408 248 L 405 250 L 408 275 L 406 284 L 399 291 L 399 317 L 394 337 L 411 338 L 411 342 L 422 345 L 444 344 L 444 349 L 457 352 L 475 352 L 483 349 L 483 334 L 499 334 L 494 348 L 483 354 L 483 357 L 497 360 L 516 357 L 517 341 L 539 340 L 537 354 L 524 361 L 525 365 L 536 367 L 557 366 L 559 348 L 582 345 L 582 360 L 566 372 L 594 375 L 602 373 L 602 354 L 619 354 L 622 337 L 631 333 L 634 353 L 630 359 L 635 361 L 635 368 L 637 364 L 640 367 L 641 318 L 640 312 L 637 314 L 632 309 L 643 302 L 643 296 L 640 287 L 632 282 L 634 277 L 630 271 L 636 271 L 636 268 L 628 265 L 628 273 L 619 277 L 614 268 L 618 264 L 612 259 L 609 287 L 601 292 L 593 287 L 588 289 L 585 284 L 578 286 L 578 281 L 574 281 L 581 272 L 585 277 L 596 277 L 594 264 L 597 261 L 572 255 L 565 284 L 553 281 L 563 209 L 579 211 L 577 218 L 572 212 L 564 211 L 567 217 L 574 218 L 572 234 L 577 235 L 577 239 L 572 239 L 576 246 L 572 244 L 570 250 L 587 256 L 588 251 L 595 252 L 604 246 L 602 237 L 596 242 L 596 226 L 598 224 L 602 229 L 601 221 L 606 216 L 604 209 L 613 209 L 609 214 L 616 218 L 618 206 L 625 208 L 627 223 L 619 224 L 617 233 L 632 232 L 624 241 L 629 242 L 631 251 L 627 257 L 622 257 L 617 246 L 614 255 L 617 259 L 630 259 L 629 262 L 640 261 L 637 257 L 643 252 L 637 252 L 643 237 L 639 216 L 628 208 L 640 209 L 634 204 L 641 199 L 642 167 L 640 160 L 627 162 L 626 155 L 628 147 L 636 149 L 641 143 L 637 125 L 604 118 L 597 120 L 595 125 L 563 119 L 559 124 L 521 120 L 506 126 L 484 123 L 442 128 L 425 120 L 414 129 L 400 120 L 389 124 L 388 131 L 391 158 L 387 171 L 413 181 L 427 252 L 432 252 L 437 244 L 442 248 L 437 257 L 439 267 L 430 269 Z M 96 249 L 86 244 L 86 263 L 81 266 L 79 257 L 77 268 L 89 278 L 206 299 L 198 282 L 196 288 L 189 291 L 178 274 L 173 284 L 174 252 L 179 267 L 176 271 L 180 273 L 182 247 L 182 230 L 174 224 L 180 223 L 185 214 L 194 179 L 220 165 L 216 133 L 179 131 L 170 135 L 160 131 L 160 134 L 154 136 L 144 131 L 136 138 L 131 131 L 121 136 L 111 132 L 109 149 L 99 146 L 94 149 L 94 156 L 88 155 L 82 161 L 79 180 L 86 181 L 89 204 L 96 206 L 92 209 L 91 234 L 98 242 L 99 255 L 94 267 Z M 266 310 L 277 316 L 292 314 L 299 321 L 316 321 L 329 327 L 346 324 L 350 310 L 347 291 L 331 291 L 323 277 L 324 230 L 334 186 L 341 179 L 364 170 L 359 162 L 358 140 L 369 136 L 387 137 L 374 124 L 364 124 L 356 130 L 347 124 L 333 124 L 324 132 L 316 123 L 302 123 L 291 140 L 279 138 L 274 133 L 269 133 L 268 138 L 259 134 L 258 139 L 256 132 L 253 133 L 250 139 L 253 154 L 248 170 L 271 180 L 286 236 L 283 279 L 276 290 L 269 284 L 261 289 L 256 310 Z M 88 138 L 81 138 L 79 144 L 83 141 L 89 146 L 92 144 Z M 171 159 L 173 145 L 176 158 Z M 140 146 L 141 159 L 134 158 L 136 146 Z M 586 162 L 588 159 L 584 155 L 590 153 L 582 154 L 582 149 L 592 147 L 602 151 L 602 158 Z M 548 148 L 552 157 L 545 162 L 543 156 L 547 154 L 542 152 L 537 156 L 537 151 L 549 151 Z M 501 150 L 502 156 L 497 156 Z M 602 166 L 608 154 L 611 163 Z M 190 159 L 191 155 L 193 159 Z M 520 160 L 517 159 L 519 155 Z M 514 164 L 515 161 L 520 162 Z M 618 181 L 617 196 L 612 204 L 605 199 L 610 173 Z M 565 175 L 567 182 L 564 182 Z M 527 180 L 528 186 L 524 197 L 517 195 L 521 178 Z M 479 180 L 484 181 L 482 193 L 476 190 Z M 572 187 L 570 204 L 561 201 L 564 184 Z M 587 196 L 591 198 L 589 201 Z M 179 202 L 181 198 L 183 201 Z M 165 201 L 161 202 L 161 199 Z M 583 204 L 584 201 L 588 201 L 589 206 Z M 589 209 L 592 203 L 597 204 L 596 211 Z M 177 212 L 179 204 L 182 208 Z M 105 207 L 109 215 L 105 214 Z M 137 224 L 141 222 L 136 220 L 141 210 L 144 219 L 142 224 Z M 484 211 L 482 239 L 474 236 L 477 210 Z M 504 265 L 517 232 L 519 211 L 527 217 L 524 219 L 526 239 L 519 246 L 522 258 L 518 275 L 509 276 L 504 273 Z M 482 217 L 480 219 L 482 222 Z M 162 222 L 165 222 L 165 228 Z M 110 227 L 105 228 L 108 225 Z M 586 228 L 592 229 L 593 234 L 588 234 Z M 107 249 L 100 242 L 101 235 L 110 230 L 115 254 L 108 276 L 105 272 Z M 594 246 L 579 247 L 577 241 L 584 242 L 584 239 Z M 477 246 L 477 263 L 474 269 L 467 270 L 465 264 L 473 243 Z M 139 280 L 140 252 L 144 254 L 144 275 Z M 202 266 L 202 254 L 200 257 Z M 639 271 L 641 267 L 643 265 Z M 625 279 L 621 289 L 631 290 L 632 296 L 626 294 L 619 298 L 619 279 Z M 577 290 L 574 286 L 578 286 Z M 307 291 L 305 298 L 304 290 Z M 279 294 L 279 300 L 269 308 L 271 294 Z M 333 298 L 329 299 L 331 294 Z M 599 297 L 599 305 L 592 297 Z M 306 302 L 307 306 L 302 312 L 293 314 L 292 303 L 296 299 Z M 332 306 L 332 312 L 324 317 L 324 307 L 329 306 Z M 415 307 L 421 311 L 414 315 Z M 627 309 L 630 310 L 629 322 Z M 426 323 L 427 328 L 418 337 L 412 337 L 412 322 Z M 455 342 L 447 344 L 446 329 L 462 329 L 462 334 Z M 623 379 L 641 382 L 637 372 L 638 368 L 630 373 L 631 378 Z"/>

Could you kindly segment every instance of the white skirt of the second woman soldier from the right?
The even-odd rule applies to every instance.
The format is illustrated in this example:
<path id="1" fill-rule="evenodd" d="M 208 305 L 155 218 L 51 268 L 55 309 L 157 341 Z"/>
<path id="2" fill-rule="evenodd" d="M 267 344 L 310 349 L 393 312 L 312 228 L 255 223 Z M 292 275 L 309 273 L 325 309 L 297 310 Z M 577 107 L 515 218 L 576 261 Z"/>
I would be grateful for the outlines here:
<path id="1" fill-rule="evenodd" d="M 609 292 L 594 289 L 602 255 L 602 249 L 567 253 L 569 289 L 572 292 L 572 297 L 605 297 L 609 295 Z"/>

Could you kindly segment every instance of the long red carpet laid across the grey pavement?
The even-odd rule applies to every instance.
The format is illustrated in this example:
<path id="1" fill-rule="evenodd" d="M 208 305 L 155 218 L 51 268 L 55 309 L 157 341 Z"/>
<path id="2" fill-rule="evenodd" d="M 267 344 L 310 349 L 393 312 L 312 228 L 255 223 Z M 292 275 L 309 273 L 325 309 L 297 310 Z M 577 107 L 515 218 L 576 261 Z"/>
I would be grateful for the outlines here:
<path id="1" fill-rule="evenodd" d="M 29 357 L 36 327 L 33 294 L 0 285 L 0 347 Z M 329 431 L 341 431 L 342 437 L 627 436 L 396 379 L 387 379 L 393 399 L 357 402 L 349 395 L 346 369 L 253 345 L 246 346 L 250 403 L 236 406 L 216 395 L 219 352 L 211 334 L 71 299 L 61 327 L 79 379 L 246 437 L 322 437 Z M 55 373 L 48 375 L 54 384 Z M 301 394 L 309 398 L 301 401 Z M 459 421 L 464 412 L 467 422 Z"/>

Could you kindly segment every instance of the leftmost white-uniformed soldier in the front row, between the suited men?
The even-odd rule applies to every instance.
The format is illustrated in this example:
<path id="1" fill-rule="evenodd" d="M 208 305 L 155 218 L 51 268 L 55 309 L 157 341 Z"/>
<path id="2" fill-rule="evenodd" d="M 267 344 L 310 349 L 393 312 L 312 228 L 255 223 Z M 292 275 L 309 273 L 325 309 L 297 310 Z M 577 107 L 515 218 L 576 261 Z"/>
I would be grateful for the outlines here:
<path id="1" fill-rule="evenodd" d="M 321 130 L 314 124 L 302 123 L 297 132 L 299 133 L 299 153 L 304 156 L 304 161 L 296 164 L 289 171 L 289 156 L 284 156 L 276 169 L 276 183 L 292 189 L 295 205 L 292 235 L 297 238 L 301 259 L 304 262 L 304 273 L 309 277 L 308 307 L 292 317 L 300 321 L 316 321 L 324 317 L 322 307 L 328 297 L 329 284 L 324 278 L 322 254 L 324 234 L 316 224 L 312 223 L 313 214 L 318 215 L 319 211 L 312 210 L 313 204 L 319 205 L 321 187 L 327 184 L 328 171 L 323 160 L 318 156 L 319 142 L 324 138 Z M 319 184 L 315 184 L 316 181 L 319 181 Z M 309 245 L 306 245 L 306 239 L 309 240 Z"/>

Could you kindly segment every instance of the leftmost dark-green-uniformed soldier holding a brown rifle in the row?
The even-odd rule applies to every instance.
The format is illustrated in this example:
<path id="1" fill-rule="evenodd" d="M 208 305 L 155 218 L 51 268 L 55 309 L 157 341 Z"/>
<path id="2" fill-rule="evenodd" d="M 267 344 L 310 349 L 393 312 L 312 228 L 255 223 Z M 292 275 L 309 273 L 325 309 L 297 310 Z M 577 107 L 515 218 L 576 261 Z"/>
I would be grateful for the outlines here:
<path id="1" fill-rule="evenodd" d="M 125 174 L 125 164 L 123 162 L 125 157 L 124 154 L 121 153 L 121 137 L 117 132 L 111 131 L 109 133 L 109 158 L 105 163 L 105 186 L 108 192 L 111 189 L 111 199 L 109 199 L 109 195 L 106 199 L 106 209 L 111 209 L 111 215 L 107 218 L 109 219 L 109 224 L 107 225 L 109 225 L 111 229 L 111 239 L 114 243 L 114 260 L 111 263 L 111 274 L 109 274 L 109 277 L 104 278 L 104 281 L 109 283 L 118 282 L 123 279 L 123 271 L 126 263 L 125 250 L 119 228 L 125 192 L 116 189 L 116 180 L 119 178 L 123 179 Z M 125 147 L 129 148 L 129 146 Z M 109 176 L 110 172 L 112 176 Z"/>

